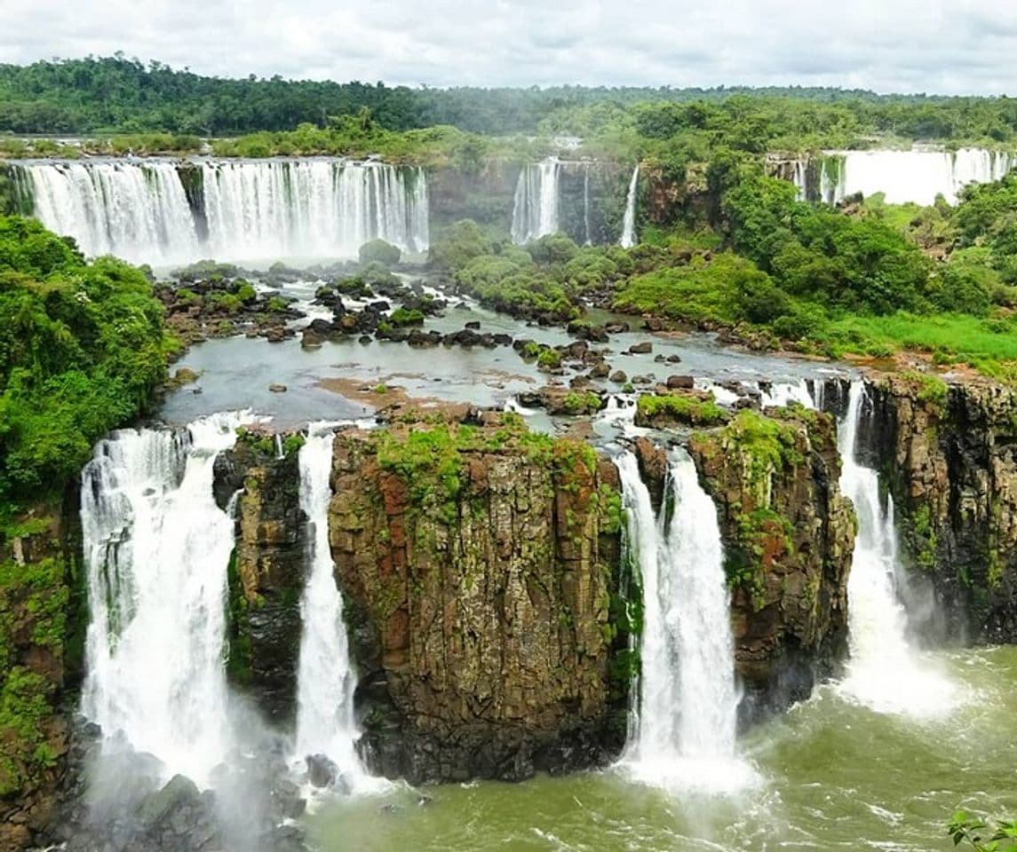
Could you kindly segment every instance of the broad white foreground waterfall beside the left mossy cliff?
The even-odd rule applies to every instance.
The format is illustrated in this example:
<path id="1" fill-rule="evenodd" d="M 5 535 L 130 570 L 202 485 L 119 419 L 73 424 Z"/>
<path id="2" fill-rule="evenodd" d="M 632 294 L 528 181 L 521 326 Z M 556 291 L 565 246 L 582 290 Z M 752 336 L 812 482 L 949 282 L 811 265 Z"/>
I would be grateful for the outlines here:
<path id="1" fill-rule="evenodd" d="M 239 415 L 121 430 L 81 473 L 91 619 L 84 716 L 207 782 L 231 744 L 223 650 L 234 524 L 213 496 Z"/>

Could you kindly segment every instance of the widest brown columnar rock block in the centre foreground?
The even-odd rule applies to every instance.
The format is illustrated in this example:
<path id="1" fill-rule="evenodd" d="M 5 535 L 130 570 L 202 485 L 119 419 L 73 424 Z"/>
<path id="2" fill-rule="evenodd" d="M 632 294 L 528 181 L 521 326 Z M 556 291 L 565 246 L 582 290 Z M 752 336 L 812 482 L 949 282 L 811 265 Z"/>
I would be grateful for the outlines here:
<path id="1" fill-rule="evenodd" d="M 333 558 L 385 775 L 518 780 L 621 745 L 616 472 L 512 417 L 336 438 Z"/>

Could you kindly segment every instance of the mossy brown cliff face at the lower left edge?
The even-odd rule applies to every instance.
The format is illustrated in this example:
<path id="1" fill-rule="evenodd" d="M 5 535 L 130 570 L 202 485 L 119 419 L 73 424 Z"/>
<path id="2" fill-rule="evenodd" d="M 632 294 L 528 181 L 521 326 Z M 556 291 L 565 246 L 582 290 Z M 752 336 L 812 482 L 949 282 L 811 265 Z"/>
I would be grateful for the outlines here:
<path id="1" fill-rule="evenodd" d="M 0 536 L 0 852 L 46 841 L 65 770 L 60 713 L 80 666 L 76 501 L 41 506 Z"/>

